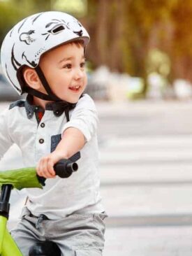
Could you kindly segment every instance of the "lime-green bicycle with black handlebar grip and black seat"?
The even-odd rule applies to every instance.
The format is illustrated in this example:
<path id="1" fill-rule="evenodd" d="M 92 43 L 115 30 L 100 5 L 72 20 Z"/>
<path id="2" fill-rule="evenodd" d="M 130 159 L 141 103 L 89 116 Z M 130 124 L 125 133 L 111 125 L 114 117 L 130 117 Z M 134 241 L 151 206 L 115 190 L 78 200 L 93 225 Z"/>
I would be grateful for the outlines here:
<path id="1" fill-rule="evenodd" d="M 77 159 L 80 159 L 80 152 L 77 152 L 70 159 L 62 159 L 54 165 L 54 171 L 60 178 L 68 178 L 74 171 L 77 171 Z M 45 178 L 36 174 L 35 167 L 15 169 L 0 172 L 0 256 L 22 256 L 11 234 L 7 229 L 9 215 L 9 199 L 13 188 L 22 190 L 22 188 L 45 186 Z M 56 243 L 52 241 L 37 241 L 34 246 L 29 248 L 29 256 L 59 256 L 61 251 Z"/>

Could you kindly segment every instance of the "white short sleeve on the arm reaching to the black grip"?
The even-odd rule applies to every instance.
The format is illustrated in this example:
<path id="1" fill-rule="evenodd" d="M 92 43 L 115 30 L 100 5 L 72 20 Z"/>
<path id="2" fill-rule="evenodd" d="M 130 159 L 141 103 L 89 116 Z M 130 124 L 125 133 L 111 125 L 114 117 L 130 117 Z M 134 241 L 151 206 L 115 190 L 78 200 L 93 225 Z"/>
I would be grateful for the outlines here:
<path id="1" fill-rule="evenodd" d="M 64 125 L 62 134 L 69 127 L 74 127 L 82 132 L 85 140 L 88 142 L 96 134 L 97 126 L 98 114 L 94 101 L 88 94 L 84 94 L 73 109 L 70 121 Z"/>

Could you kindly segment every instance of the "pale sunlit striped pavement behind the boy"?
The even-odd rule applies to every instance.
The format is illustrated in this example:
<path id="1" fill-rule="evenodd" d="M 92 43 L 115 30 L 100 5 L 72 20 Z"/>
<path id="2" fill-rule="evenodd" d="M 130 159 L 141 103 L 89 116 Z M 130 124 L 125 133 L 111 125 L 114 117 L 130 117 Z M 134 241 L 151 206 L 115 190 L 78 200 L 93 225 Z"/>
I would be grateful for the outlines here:
<path id="1" fill-rule="evenodd" d="M 96 106 L 101 194 L 109 215 L 103 255 L 191 255 L 192 101 Z M 1 169 L 20 165 L 18 159 L 13 147 Z M 10 227 L 23 201 L 14 192 Z"/>

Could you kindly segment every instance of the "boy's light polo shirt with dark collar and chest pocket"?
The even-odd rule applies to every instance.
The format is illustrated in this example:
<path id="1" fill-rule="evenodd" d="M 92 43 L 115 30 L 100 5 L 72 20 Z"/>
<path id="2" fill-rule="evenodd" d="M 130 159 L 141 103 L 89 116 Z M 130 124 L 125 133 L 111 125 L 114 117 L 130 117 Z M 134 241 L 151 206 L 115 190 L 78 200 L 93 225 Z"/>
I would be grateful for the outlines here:
<path id="1" fill-rule="evenodd" d="M 0 115 L 0 157 L 16 143 L 22 151 L 24 166 L 36 166 L 38 160 L 52 152 L 68 127 L 82 131 L 87 143 L 77 161 L 79 169 L 67 179 L 50 178 L 43 190 L 27 189 L 27 207 L 34 215 L 43 213 L 52 220 L 64 218 L 73 212 L 100 213 L 104 211 L 99 194 L 98 123 L 94 101 L 88 94 L 77 102 L 66 119 L 64 103 L 47 104 L 43 118 L 39 106 L 29 100 L 16 101 Z"/>

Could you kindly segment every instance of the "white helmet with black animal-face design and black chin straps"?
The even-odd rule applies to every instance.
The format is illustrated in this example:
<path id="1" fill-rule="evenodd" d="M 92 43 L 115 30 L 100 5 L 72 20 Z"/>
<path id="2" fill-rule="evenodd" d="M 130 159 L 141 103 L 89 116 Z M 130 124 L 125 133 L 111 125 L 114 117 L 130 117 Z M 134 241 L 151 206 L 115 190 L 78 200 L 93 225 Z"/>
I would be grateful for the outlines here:
<path id="1" fill-rule="evenodd" d="M 39 69 L 38 63 L 43 53 L 58 45 L 75 40 L 82 40 L 84 47 L 89 43 L 89 34 L 75 17 L 57 11 L 31 15 L 17 23 L 4 38 L 1 46 L 3 72 L 19 94 L 27 92 L 21 76 L 22 66 L 27 65 Z M 49 85 L 47 85 L 49 88 L 46 89 L 47 81 L 44 79 L 42 71 L 38 70 L 38 76 L 41 81 L 43 79 L 47 93 L 52 94 Z M 35 94 L 40 97 L 39 94 Z M 50 100 L 49 97 L 45 97 L 47 94 L 43 95 L 44 97 L 41 99 Z M 51 97 L 51 99 L 59 99 L 55 97 Z"/>

